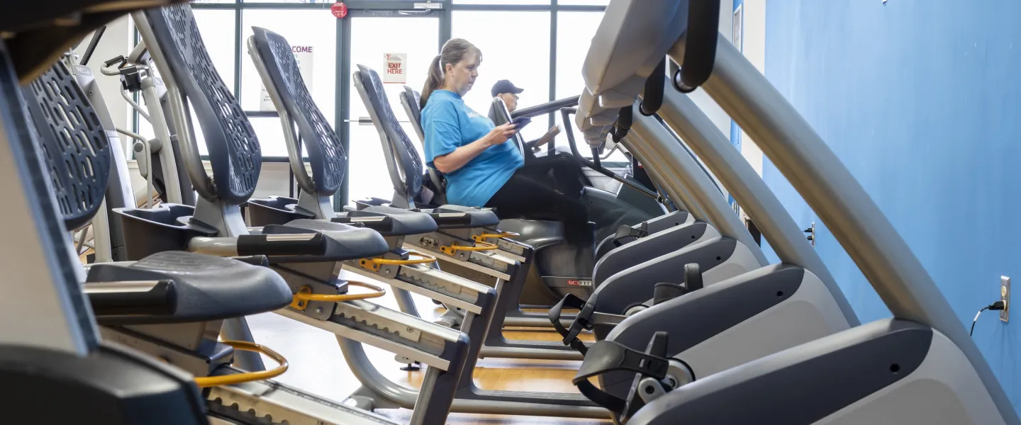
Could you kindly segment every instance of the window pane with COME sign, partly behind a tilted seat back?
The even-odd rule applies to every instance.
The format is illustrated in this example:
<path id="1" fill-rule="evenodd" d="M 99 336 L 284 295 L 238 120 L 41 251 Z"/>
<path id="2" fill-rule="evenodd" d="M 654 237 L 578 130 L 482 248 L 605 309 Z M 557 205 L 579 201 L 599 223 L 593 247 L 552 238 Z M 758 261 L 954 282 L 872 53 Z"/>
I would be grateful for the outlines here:
<path id="1" fill-rule="evenodd" d="M 262 78 L 248 55 L 248 38 L 252 26 L 270 30 L 283 36 L 302 67 L 302 78 L 312 95 L 315 106 L 331 125 L 336 125 L 337 88 L 337 18 L 323 10 L 248 9 L 242 11 L 241 107 L 246 111 L 275 111 L 273 102 L 264 97 Z M 306 68 L 310 66 L 310 68 Z M 256 120 L 261 122 L 256 125 Z M 283 128 L 279 118 L 253 118 L 264 156 L 287 156 Z M 275 127 L 275 128 L 271 128 Z"/>

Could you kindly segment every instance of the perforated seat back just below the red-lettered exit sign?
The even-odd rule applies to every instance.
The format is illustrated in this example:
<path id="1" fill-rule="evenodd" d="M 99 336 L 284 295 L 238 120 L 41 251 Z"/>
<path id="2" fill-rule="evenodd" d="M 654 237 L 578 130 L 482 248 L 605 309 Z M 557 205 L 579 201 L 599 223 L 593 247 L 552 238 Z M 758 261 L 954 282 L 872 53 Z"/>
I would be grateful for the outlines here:
<path id="1" fill-rule="evenodd" d="M 379 130 L 393 190 L 410 201 L 422 191 L 422 178 L 425 173 L 422 158 L 419 157 L 415 145 L 394 116 L 379 74 L 369 67 L 358 65 L 358 70 L 354 72 L 354 85 L 369 108 L 369 115 L 376 123 L 376 129 Z"/>

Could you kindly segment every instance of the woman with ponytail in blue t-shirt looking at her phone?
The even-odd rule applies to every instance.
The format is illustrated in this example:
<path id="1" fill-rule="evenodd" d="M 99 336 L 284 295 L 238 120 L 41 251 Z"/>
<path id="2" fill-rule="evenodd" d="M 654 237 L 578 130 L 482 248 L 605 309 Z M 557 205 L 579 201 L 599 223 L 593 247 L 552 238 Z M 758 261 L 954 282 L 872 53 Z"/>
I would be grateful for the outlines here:
<path id="1" fill-rule="evenodd" d="M 570 158 L 525 164 L 509 140 L 515 124 L 495 126 L 465 104 L 481 62 L 478 48 L 452 39 L 433 59 L 422 91 L 426 162 L 446 176 L 447 202 L 491 207 L 500 218 L 560 220 L 569 243 L 591 250 L 581 166 Z"/>

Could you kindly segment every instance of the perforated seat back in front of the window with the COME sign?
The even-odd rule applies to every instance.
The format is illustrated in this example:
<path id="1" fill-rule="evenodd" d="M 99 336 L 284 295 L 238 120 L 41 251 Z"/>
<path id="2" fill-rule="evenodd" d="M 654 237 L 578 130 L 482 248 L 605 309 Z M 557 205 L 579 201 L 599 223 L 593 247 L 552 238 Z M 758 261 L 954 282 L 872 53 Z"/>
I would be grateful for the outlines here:
<path id="1" fill-rule="evenodd" d="M 255 32 L 255 46 L 273 86 L 280 94 L 291 119 L 297 124 L 298 134 L 308 152 L 314 188 L 303 189 L 331 196 L 340 188 L 344 179 L 344 167 L 347 165 L 347 155 L 340 138 L 312 101 L 287 39 L 258 26 L 253 26 L 252 30 Z M 295 146 L 294 149 L 298 147 Z"/>

